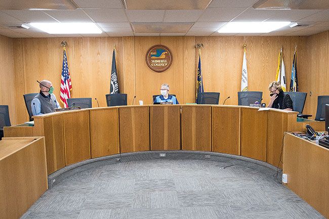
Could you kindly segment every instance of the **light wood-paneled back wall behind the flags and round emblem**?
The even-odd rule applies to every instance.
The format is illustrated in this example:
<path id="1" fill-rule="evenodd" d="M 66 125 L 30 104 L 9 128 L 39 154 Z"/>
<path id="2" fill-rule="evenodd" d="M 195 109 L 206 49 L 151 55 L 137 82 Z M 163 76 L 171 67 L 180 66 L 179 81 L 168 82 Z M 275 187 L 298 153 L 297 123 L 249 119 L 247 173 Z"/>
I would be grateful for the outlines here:
<path id="1" fill-rule="evenodd" d="M 109 93 L 113 46 L 116 45 L 116 63 L 121 93 L 128 94 L 128 105 L 150 104 L 152 95 L 159 94 L 162 83 L 169 83 L 170 93 L 176 94 L 180 103 L 192 103 L 195 98 L 195 72 L 198 53 L 194 46 L 202 42 L 201 62 L 205 92 L 220 92 L 220 104 L 230 96 L 226 104 L 237 105 L 240 90 L 243 43 L 247 45 L 249 90 L 262 91 L 263 102 L 269 102 L 268 84 L 275 79 L 277 56 L 283 49 L 287 87 L 290 85 L 291 67 L 295 46 L 300 91 L 312 91 L 307 97 L 304 113 L 315 115 L 317 95 L 328 94 L 326 75 L 328 33 L 313 36 L 138 36 L 138 37 L 67 37 L 67 38 L 17 38 L 13 40 L 16 111 L 12 121 L 27 120 L 22 95 L 38 92 L 36 80 L 49 79 L 55 86 L 59 99 L 62 48 L 60 42 L 68 42 L 68 65 L 72 78 L 73 98 L 97 98 L 100 106 L 106 106 L 105 94 Z M 169 47 L 174 62 L 165 72 L 153 72 L 145 63 L 147 50 L 155 44 Z M 10 43 L 6 45 L 10 48 Z M 7 54 L 7 53 L 6 53 Z M 1 55 L 0 55 L 1 56 Z M 7 55 L 6 55 L 7 56 Z M 7 61 L 6 61 L 7 62 Z M 13 93 L 11 93 L 13 94 Z M 4 96 L 2 95 L 2 97 Z M 9 97 L 5 97 L 9 98 Z M 93 106 L 97 106 L 93 100 Z M 16 115 L 16 116 L 15 116 Z M 17 119 L 16 119 L 17 118 Z"/>

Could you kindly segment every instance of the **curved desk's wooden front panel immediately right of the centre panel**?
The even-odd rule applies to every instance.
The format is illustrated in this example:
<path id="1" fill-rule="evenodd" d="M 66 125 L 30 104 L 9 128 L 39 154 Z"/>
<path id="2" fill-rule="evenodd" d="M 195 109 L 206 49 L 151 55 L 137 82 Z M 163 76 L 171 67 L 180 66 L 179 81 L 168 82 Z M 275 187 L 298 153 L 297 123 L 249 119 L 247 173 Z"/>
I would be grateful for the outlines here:
<path id="1" fill-rule="evenodd" d="M 182 150 L 211 151 L 211 105 L 182 105 Z"/>

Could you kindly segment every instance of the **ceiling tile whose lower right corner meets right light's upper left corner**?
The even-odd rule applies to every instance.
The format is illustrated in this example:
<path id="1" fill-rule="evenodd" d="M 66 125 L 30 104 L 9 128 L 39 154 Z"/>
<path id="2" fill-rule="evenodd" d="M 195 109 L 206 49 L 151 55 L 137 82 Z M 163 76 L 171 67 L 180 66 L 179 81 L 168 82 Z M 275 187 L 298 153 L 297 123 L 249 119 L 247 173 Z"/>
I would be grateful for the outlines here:
<path id="1" fill-rule="evenodd" d="M 213 8 L 206 9 L 198 22 L 228 22 L 243 12 L 245 8 Z"/>

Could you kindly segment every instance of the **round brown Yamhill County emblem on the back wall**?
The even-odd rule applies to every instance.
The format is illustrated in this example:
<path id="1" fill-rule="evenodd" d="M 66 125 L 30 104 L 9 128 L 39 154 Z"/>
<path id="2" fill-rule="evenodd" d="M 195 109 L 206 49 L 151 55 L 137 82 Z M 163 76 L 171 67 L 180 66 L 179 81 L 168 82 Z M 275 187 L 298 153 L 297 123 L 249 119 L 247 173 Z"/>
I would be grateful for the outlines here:
<path id="1" fill-rule="evenodd" d="M 173 62 L 172 52 L 163 45 L 155 45 L 146 53 L 147 66 L 156 72 L 166 71 Z"/>

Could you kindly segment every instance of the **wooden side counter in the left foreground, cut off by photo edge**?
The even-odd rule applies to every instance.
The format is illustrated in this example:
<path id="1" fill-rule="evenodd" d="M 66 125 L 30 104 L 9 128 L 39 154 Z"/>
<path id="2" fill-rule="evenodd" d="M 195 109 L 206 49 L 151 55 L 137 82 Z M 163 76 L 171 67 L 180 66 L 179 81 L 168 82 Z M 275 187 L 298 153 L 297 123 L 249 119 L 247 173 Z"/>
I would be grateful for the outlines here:
<path id="1" fill-rule="evenodd" d="M 0 218 L 20 218 L 48 189 L 44 137 L 0 141 Z"/>

